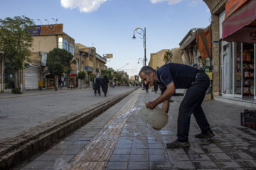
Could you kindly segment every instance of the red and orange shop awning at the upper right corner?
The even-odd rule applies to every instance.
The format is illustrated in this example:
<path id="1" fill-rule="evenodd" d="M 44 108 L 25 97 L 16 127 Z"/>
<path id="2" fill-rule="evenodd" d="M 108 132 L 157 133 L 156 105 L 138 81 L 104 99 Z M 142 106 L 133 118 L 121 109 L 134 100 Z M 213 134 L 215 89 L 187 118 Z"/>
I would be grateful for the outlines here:
<path id="1" fill-rule="evenodd" d="M 256 43 L 256 1 L 228 0 L 223 25 L 223 40 Z"/>

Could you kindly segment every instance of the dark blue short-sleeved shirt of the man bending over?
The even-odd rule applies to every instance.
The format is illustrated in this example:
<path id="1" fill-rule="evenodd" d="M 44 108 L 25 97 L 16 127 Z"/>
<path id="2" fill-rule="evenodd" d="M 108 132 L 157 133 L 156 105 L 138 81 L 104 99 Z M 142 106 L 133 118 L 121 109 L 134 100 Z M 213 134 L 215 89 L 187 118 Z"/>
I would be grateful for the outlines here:
<path id="1" fill-rule="evenodd" d="M 185 64 L 165 64 L 156 70 L 156 77 L 159 79 L 159 89 L 164 94 L 166 86 L 169 86 L 172 82 L 174 82 L 176 89 L 188 89 L 195 79 L 197 71 L 198 69 Z"/>

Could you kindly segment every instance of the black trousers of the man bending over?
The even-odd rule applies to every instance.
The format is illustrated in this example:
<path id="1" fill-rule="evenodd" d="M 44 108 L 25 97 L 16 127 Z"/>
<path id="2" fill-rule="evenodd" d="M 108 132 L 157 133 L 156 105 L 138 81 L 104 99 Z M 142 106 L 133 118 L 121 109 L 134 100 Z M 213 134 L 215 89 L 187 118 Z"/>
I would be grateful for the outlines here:
<path id="1" fill-rule="evenodd" d="M 186 95 L 181 101 L 178 110 L 178 132 L 177 137 L 179 142 L 188 142 L 188 132 L 191 121 L 191 114 L 193 113 L 196 122 L 201 128 L 202 132 L 209 132 L 210 125 L 203 112 L 201 103 L 206 95 L 206 90 L 210 85 L 210 79 L 204 72 L 198 75 L 188 88 Z"/>

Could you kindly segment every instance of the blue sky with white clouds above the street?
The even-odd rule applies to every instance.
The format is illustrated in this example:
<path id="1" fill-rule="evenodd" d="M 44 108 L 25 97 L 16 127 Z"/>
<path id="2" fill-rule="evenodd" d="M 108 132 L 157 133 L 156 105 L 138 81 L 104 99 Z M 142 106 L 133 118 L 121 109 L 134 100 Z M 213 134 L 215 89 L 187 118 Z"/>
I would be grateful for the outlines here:
<path id="1" fill-rule="evenodd" d="M 191 28 L 210 25 L 210 11 L 202 0 L 0 0 L 0 4 L 1 19 L 26 16 L 36 25 L 58 19 L 75 43 L 93 46 L 101 56 L 113 54 L 107 67 L 124 70 L 130 77 L 139 73 L 144 59 L 142 36 L 135 33 L 137 38 L 132 39 L 136 28 L 146 28 L 148 64 L 151 53 L 179 47 Z"/>

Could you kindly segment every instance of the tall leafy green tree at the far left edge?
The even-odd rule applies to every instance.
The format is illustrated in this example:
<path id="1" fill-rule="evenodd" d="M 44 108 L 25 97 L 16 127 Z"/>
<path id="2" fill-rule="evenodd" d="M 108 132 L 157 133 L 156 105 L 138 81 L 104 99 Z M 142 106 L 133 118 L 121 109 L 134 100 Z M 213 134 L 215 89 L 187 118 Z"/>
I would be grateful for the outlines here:
<path id="1" fill-rule="evenodd" d="M 25 60 L 31 55 L 33 38 L 29 30 L 33 28 L 33 21 L 26 16 L 0 19 L 0 51 L 9 60 L 14 69 L 14 87 L 18 85 L 18 70 L 23 69 Z"/>

